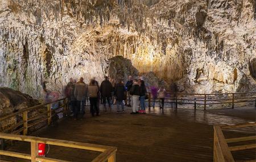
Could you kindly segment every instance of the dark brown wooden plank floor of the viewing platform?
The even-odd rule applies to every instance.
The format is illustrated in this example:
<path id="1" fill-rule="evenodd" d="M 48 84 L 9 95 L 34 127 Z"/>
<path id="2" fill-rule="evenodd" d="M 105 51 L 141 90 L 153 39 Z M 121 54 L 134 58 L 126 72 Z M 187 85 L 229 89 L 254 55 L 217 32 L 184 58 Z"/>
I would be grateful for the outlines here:
<path id="1" fill-rule="evenodd" d="M 115 146 L 118 149 L 117 161 L 213 161 L 213 124 L 255 122 L 256 116 L 254 106 L 206 111 L 164 109 L 164 113 L 157 107 L 147 109 L 147 114 L 135 115 L 130 111 L 130 107 L 126 107 L 125 113 L 118 114 L 113 109 L 92 118 L 89 107 L 86 107 L 85 119 L 74 121 L 69 117 L 33 135 Z M 224 130 L 226 138 L 253 134 L 255 128 Z M 16 150 L 29 153 L 30 146 L 16 142 L 10 151 Z M 255 151 L 247 149 L 233 151 L 232 154 L 236 160 L 248 160 L 255 159 Z M 91 161 L 99 153 L 51 146 L 47 157 Z"/>

